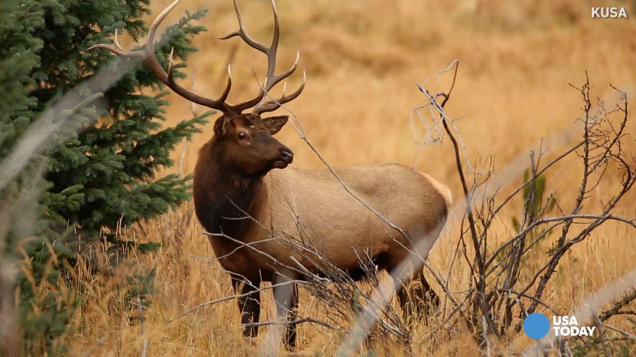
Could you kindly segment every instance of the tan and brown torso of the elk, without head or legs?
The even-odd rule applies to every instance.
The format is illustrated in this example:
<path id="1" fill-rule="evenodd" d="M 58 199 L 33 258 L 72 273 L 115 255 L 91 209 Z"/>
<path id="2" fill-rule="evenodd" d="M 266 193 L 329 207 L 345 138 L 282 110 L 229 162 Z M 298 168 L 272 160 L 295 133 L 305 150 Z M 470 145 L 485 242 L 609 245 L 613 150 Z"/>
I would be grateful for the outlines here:
<path id="1" fill-rule="evenodd" d="M 225 192 L 212 190 L 215 186 L 206 174 L 211 161 L 205 151 L 210 146 L 205 145 L 200 152 L 194 194 L 197 215 L 212 231 L 213 225 L 206 220 L 211 219 L 213 213 L 205 209 L 205 202 L 222 199 L 216 195 Z M 428 236 L 431 242 L 425 246 L 430 247 L 437 239 L 450 205 L 450 191 L 429 175 L 395 164 L 345 166 L 335 168 L 335 172 L 359 198 L 403 229 L 414 242 Z M 249 216 L 252 219 L 244 219 L 238 230 L 223 233 L 240 238 L 243 244 L 255 249 L 242 249 L 237 255 L 231 253 L 239 248 L 239 243 L 217 237 L 212 237 L 211 243 L 215 255 L 223 257 L 220 262 L 225 269 L 252 280 L 273 273 L 272 261 L 267 255 L 285 266 L 296 266 L 300 262 L 312 273 L 318 273 L 314 261 L 303 259 L 300 253 L 290 250 L 287 243 L 267 240 L 273 236 L 296 239 L 302 236 L 308 245 L 345 271 L 355 271 L 365 254 L 371 257 L 385 254 L 387 259 L 379 268 L 391 269 L 408 253 L 394 239 L 411 245 L 350 196 L 327 169 L 272 170 L 251 187 L 244 187 L 244 191 L 237 193 L 243 195 L 254 189 L 253 204 L 242 207 L 244 212 L 236 212 L 237 217 L 231 218 Z M 240 198 L 227 199 L 239 201 Z M 256 243 L 258 241 L 264 242 Z M 427 253 L 420 252 L 420 255 L 426 258 Z"/>

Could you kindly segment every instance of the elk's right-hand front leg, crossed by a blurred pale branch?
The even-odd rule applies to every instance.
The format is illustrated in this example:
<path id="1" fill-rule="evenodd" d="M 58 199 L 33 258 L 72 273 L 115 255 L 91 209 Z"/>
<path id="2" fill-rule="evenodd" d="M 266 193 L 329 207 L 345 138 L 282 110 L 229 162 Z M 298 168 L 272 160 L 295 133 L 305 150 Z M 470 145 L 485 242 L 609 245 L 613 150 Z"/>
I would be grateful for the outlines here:
<path id="1" fill-rule="evenodd" d="M 276 303 L 277 318 L 279 321 L 296 320 L 296 309 L 298 308 L 298 285 L 292 282 L 293 275 L 275 273 L 273 284 L 284 284 L 275 286 L 274 301 Z M 287 349 L 296 347 L 296 325 L 286 325 L 284 342 Z"/>

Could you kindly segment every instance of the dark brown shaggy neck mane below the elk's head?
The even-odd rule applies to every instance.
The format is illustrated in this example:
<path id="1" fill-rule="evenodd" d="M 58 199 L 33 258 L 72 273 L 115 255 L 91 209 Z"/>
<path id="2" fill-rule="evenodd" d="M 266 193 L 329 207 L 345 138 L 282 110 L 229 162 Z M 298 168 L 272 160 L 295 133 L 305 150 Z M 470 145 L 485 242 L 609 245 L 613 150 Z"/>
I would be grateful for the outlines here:
<path id="1" fill-rule="evenodd" d="M 224 165 L 225 153 L 214 144 L 213 139 L 199 152 L 193 182 L 195 211 L 206 231 L 242 239 L 242 233 L 260 218 L 265 183 L 262 176 L 246 177 Z"/>

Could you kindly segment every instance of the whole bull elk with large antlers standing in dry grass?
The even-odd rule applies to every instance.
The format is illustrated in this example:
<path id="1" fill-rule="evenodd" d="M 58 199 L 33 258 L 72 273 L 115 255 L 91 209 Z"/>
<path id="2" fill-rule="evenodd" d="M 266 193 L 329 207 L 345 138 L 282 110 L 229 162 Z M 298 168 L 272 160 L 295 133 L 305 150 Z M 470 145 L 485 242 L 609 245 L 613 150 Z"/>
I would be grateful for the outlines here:
<path id="1" fill-rule="evenodd" d="M 350 272 L 354 280 L 363 278 L 363 274 L 359 274 L 358 252 L 370 255 L 378 270 L 391 271 L 411 254 L 406 245 L 429 239 L 425 242 L 428 243 L 426 250 L 418 252 L 425 259 L 438 238 L 451 203 L 448 188 L 429 175 L 397 164 L 335 168 L 344 184 L 381 212 L 386 219 L 383 220 L 347 194 L 329 170 L 287 168 L 294 154 L 273 135 L 289 118 L 263 118 L 262 114 L 275 111 L 298 97 L 305 87 L 306 76 L 303 73 L 303 82 L 293 93 L 286 95 L 283 91 L 277 100 L 268 96 L 273 86 L 293 74 L 299 60 L 296 55 L 289 70 L 275 74 L 279 44 L 275 1 L 272 0 L 274 27 L 269 47 L 247 34 L 237 0 L 234 0 L 234 7 L 239 29 L 219 37 L 238 36 L 267 57 L 266 79 L 261 89 L 256 97 L 239 104 L 226 102 L 232 87 L 230 67 L 225 90 L 214 100 L 186 90 L 174 81 L 172 56 L 167 72 L 156 59 L 156 29 L 178 2 L 174 1 L 155 19 L 145 48 L 123 50 L 116 38 L 114 45 L 97 44 L 92 48 L 106 49 L 120 57 L 141 58 L 178 95 L 222 113 L 214 123 L 211 139 L 200 149 L 193 177 L 193 195 L 198 220 L 210 234 L 214 253 L 221 266 L 230 272 L 235 292 L 242 296 L 237 299 L 241 321 L 252 323 L 245 328 L 244 335 L 256 337 L 258 333 L 258 326 L 253 323 L 259 321 L 261 282 L 270 281 L 276 285 L 273 295 L 279 318 L 291 319 L 298 304 L 298 288 L 293 281 L 305 278 L 298 269 L 291 267 L 300 264 L 302 271 L 319 273 L 319 267 L 307 255 L 277 239 L 283 234 L 297 237 L 299 224 L 310 232 L 305 241 L 317 247 L 331 264 Z M 248 109 L 251 112 L 245 112 Z M 405 236 L 387 234 L 395 230 L 387 220 L 400 227 Z M 410 297 L 415 297 L 413 312 L 421 318 L 429 305 L 438 304 L 438 297 L 425 280 L 421 266 L 419 268 L 414 269 L 409 281 L 420 281 L 421 284 L 415 284 L 417 287 L 408 292 L 407 281 L 397 289 L 397 297 L 404 314 L 410 314 L 407 307 Z M 285 284 L 286 281 L 289 283 Z M 249 293 L 252 294 L 247 295 Z M 295 338 L 295 325 L 290 324 L 286 328 L 287 345 L 294 346 Z"/>

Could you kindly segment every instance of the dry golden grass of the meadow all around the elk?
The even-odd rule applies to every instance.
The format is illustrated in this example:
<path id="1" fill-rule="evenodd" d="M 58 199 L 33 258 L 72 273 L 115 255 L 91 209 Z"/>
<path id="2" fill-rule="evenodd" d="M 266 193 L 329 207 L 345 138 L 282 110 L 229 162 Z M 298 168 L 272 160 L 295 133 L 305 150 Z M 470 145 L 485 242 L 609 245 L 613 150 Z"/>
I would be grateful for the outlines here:
<path id="1" fill-rule="evenodd" d="M 168 3 L 168 0 L 153 1 L 154 13 Z M 251 33 L 268 41 L 271 30 L 268 2 L 242 0 L 240 5 Z M 305 69 L 308 75 L 303 95 L 289 107 L 300 116 L 310 140 L 328 162 L 412 165 L 451 187 L 456 200 L 461 199 L 460 185 L 450 142 L 428 145 L 415 158 L 419 148 L 413 143 L 409 113 L 424 102 L 416 82 L 452 60 L 460 60 L 459 79 L 447 106 L 448 114 L 453 118 L 466 116 L 457 125 L 468 156 L 495 155 L 497 168 L 503 168 L 519 155 L 527 156 L 532 144 L 574 122 L 579 116 L 581 98 L 568 83 L 582 83 L 584 71 L 590 73 L 598 97 L 611 94 L 610 82 L 627 91 L 635 88 L 636 37 L 629 34 L 636 30 L 636 21 L 592 19 L 591 1 L 464 0 L 450 4 L 417 0 L 280 0 L 278 6 L 282 25 L 279 68 L 291 65 L 298 48 L 300 69 Z M 195 40 L 200 52 L 191 58 L 190 67 L 196 71 L 198 92 L 215 97 L 223 86 L 227 53 L 240 41 L 216 39 L 237 27 L 232 3 L 183 1 L 165 23 L 176 20 L 186 8 L 201 7 L 210 10 L 204 20 L 209 32 Z M 632 15 L 636 8 L 627 11 Z M 256 93 L 258 87 L 251 68 L 263 73 L 263 60 L 262 55 L 240 44 L 232 66 L 235 86 L 231 102 Z M 300 77 L 294 75 L 290 88 Z M 448 79 L 443 77 L 442 84 L 447 86 Z M 434 80 L 430 84 L 434 89 Z M 170 95 L 169 100 L 172 102 L 169 123 L 188 116 L 184 114 L 190 112 L 188 102 L 176 95 Z M 632 120 L 628 130 L 633 133 L 634 129 Z M 422 128 L 418 127 L 418 131 L 421 133 Z M 194 138 L 184 160 L 186 172 L 193 169 L 198 147 L 211 135 L 212 125 L 208 125 L 204 133 Z M 293 165 L 321 166 L 292 128 L 284 128 L 277 137 L 295 152 Z M 628 141 L 633 143 L 633 138 Z M 635 145 L 630 149 L 635 149 Z M 174 154 L 177 161 L 181 150 L 180 147 Z M 565 206 L 571 203 L 569 197 L 578 184 L 579 166 L 570 162 L 548 174 L 550 188 L 557 191 Z M 599 199 L 606 198 L 605 192 L 615 188 L 618 179 L 619 173 L 608 174 L 605 185 L 590 199 L 587 212 L 598 211 Z M 515 184 L 519 182 L 520 177 L 514 180 Z M 631 194 L 617 213 L 635 217 L 635 203 L 636 196 Z M 519 207 L 513 202 L 511 209 L 502 215 L 494 236 L 503 238 L 507 234 L 511 217 L 519 212 Z M 450 232 L 439 239 L 429 257 L 432 266 L 444 270 L 448 265 L 448 246 L 456 237 L 456 232 Z M 127 238 L 163 244 L 158 252 L 134 257 L 130 264 L 142 271 L 156 269 L 156 294 L 144 313 L 148 356 L 258 353 L 257 347 L 242 338 L 234 301 L 204 307 L 167 323 L 200 302 L 233 293 L 228 276 L 210 260 L 211 246 L 193 218 L 191 206 L 143 224 L 142 228 L 135 227 L 127 232 Z M 623 226 L 608 224 L 596 231 L 563 259 L 544 298 L 567 313 L 589 293 L 636 267 L 632 259 L 636 254 L 633 239 L 633 231 Z M 84 282 L 90 281 L 92 291 L 87 295 L 86 306 L 79 309 L 74 319 L 78 329 L 72 338 L 72 354 L 83 353 L 104 337 L 94 355 L 138 356 L 141 327 L 134 318 L 136 311 L 125 306 L 123 296 L 118 293 L 119 280 L 81 269 L 77 274 Z M 453 276 L 452 288 L 459 290 L 468 271 L 458 265 Z M 439 286 L 433 287 L 439 291 Z M 263 300 L 262 318 L 267 319 L 273 306 L 267 297 Z M 304 315 L 328 320 L 324 306 L 305 293 L 301 295 L 300 306 Z M 625 325 L 619 319 L 612 323 Z M 423 324 L 415 327 L 415 354 L 478 353 L 471 335 L 451 334 L 438 324 L 439 321 L 433 321 L 429 327 Z M 336 332 L 310 325 L 301 325 L 299 337 L 300 355 L 312 356 L 332 355 L 342 340 Z M 530 346 L 531 342 L 523 333 L 511 336 L 510 340 L 511 351 Z M 388 343 L 381 346 L 380 354 L 399 355 L 400 351 L 399 346 Z"/>

